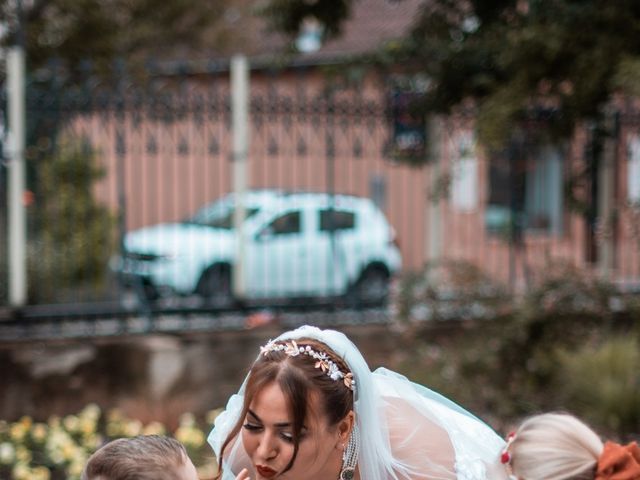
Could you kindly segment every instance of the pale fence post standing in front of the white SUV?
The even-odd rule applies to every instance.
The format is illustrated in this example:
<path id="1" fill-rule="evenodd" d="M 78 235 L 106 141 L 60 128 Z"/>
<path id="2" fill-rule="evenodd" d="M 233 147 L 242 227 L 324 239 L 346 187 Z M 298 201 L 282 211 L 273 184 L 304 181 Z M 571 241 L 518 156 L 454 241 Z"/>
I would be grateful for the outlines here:
<path id="1" fill-rule="evenodd" d="M 249 63 L 244 55 L 231 59 L 231 119 L 233 133 L 233 191 L 235 208 L 233 226 L 236 232 L 236 261 L 232 272 L 233 295 L 246 295 L 245 279 L 245 195 L 249 184 L 247 158 L 249 152 Z"/>

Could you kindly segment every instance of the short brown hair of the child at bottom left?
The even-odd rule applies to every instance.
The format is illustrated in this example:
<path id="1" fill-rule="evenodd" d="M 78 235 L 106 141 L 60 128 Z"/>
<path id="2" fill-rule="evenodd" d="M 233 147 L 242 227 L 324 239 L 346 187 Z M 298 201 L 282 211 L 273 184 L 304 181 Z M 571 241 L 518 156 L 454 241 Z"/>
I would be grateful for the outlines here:
<path id="1" fill-rule="evenodd" d="M 174 480 L 186 459 L 184 446 L 170 437 L 120 438 L 91 455 L 82 480 Z"/>

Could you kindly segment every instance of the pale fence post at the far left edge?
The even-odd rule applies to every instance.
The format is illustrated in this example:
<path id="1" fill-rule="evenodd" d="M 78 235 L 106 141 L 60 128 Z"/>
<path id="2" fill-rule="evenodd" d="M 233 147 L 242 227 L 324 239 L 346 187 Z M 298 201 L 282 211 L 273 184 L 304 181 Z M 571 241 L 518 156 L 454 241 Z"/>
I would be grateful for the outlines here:
<path id="1" fill-rule="evenodd" d="M 27 301 L 27 216 L 25 192 L 25 66 L 24 49 L 14 46 L 7 54 L 9 104 L 9 304 L 21 307 Z"/>

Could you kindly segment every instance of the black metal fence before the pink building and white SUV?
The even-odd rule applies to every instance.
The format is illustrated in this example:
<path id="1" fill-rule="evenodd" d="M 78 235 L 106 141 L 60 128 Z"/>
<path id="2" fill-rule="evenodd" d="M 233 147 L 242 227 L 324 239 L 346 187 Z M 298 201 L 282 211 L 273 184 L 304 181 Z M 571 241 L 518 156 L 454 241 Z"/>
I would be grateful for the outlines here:
<path id="1" fill-rule="evenodd" d="M 228 205 L 194 217 L 233 191 L 228 73 L 219 68 L 176 71 L 141 80 L 121 71 L 115 77 L 107 82 L 86 74 L 64 87 L 55 80 L 34 80 L 28 90 L 29 304 L 162 311 L 206 307 L 206 291 L 207 298 L 217 298 L 226 308 L 228 299 L 216 294 L 232 293 L 236 250 L 227 251 L 226 260 L 216 265 L 185 261 L 164 273 L 151 270 L 173 257 L 207 249 L 222 255 L 232 248 L 229 235 L 212 240 L 202 225 L 194 225 L 212 215 L 202 223 L 210 221 L 218 233 L 232 227 Z M 589 217 L 572 210 L 564 193 L 568 180 L 589 164 L 588 135 L 565 149 L 526 145 L 520 152 L 523 167 L 514 174 L 511 160 L 510 169 L 501 169 L 499 161 L 489 162 L 477 152 L 472 121 L 439 119 L 436 128 L 424 126 L 430 163 L 413 166 L 394 153 L 409 138 L 398 126 L 411 124 L 394 108 L 394 98 L 388 83 L 373 74 L 354 84 L 320 70 L 252 72 L 248 182 L 256 195 L 266 196 L 256 197 L 255 205 L 248 201 L 246 212 L 258 218 L 264 202 L 272 202 L 291 213 L 289 200 L 301 212 L 317 209 L 308 217 L 290 215 L 282 225 L 274 220 L 268 241 L 252 230 L 254 254 L 262 256 L 262 263 L 261 271 L 248 270 L 248 277 L 262 275 L 263 285 L 282 285 L 281 292 L 260 291 L 255 304 L 292 297 L 305 304 L 310 298 L 333 303 L 354 292 L 382 298 L 400 266 L 392 253 L 398 246 L 401 271 L 418 271 L 434 259 L 439 264 L 464 261 L 521 290 L 529 277 L 559 260 L 595 270 L 593 245 L 614 238 L 613 279 L 639 282 L 637 181 L 630 175 L 640 168 L 640 149 L 633 150 L 638 141 L 633 125 L 617 133 L 617 145 L 629 148 L 616 157 L 617 223 L 605 231 L 595 225 L 593 212 Z M 0 245 L 7 252 L 6 170 L 0 171 Z M 585 208 L 597 204 L 590 185 L 576 187 L 584 189 Z M 292 192 L 324 196 L 311 207 Z M 371 244 L 379 232 L 354 220 L 350 215 L 361 213 L 349 210 L 341 195 L 367 199 L 366 205 L 384 214 L 391 230 L 382 244 Z M 327 235 L 311 239 L 303 233 L 307 227 Z M 274 235 L 276 228 L 283 230 Z M 341 246 L 358 228 L 364 243 L 348 246 L 352 250 Z M 130 235 L 141 229 L 146 229 L 141 236 Z M 287 235 L 292 232 L 300 234 L 300 245 Z M 265 249 L 272 240 L 273 249 Z M 195 243 L 181 250 L 181 242 Z M 346 265 L 367 248 L 387 250 L 371 253 L 356 275 L 355 267 Z M 307 257 L 293 258 L 299 252 Z M 3 272 L 7 254 L 0 258 Z M 315 257 L 322 257 L 319 267 L 312 266 Z M 265 273 L 275 258 L 280 263 L 274 261 L 273 270 Z M 319 270 L 294 274 L 291 263 Z M 343 271 L 351 272 L 344 274 L 348 281 L 338 278 Z M 297 275 L 293 286 L 283 280 L 287 275 Z M 160 277 L 164 285 L 158 284 Z M 331 277 L 329 283 L 318 280 L 325 277 Z M 213 282 L 212 289 L 206 290 L 207 281 Z M 0 303 L 6 304 L 6 284 L 0 285 Z M 305 288 L 296 290 L 301 285 Z"/>

